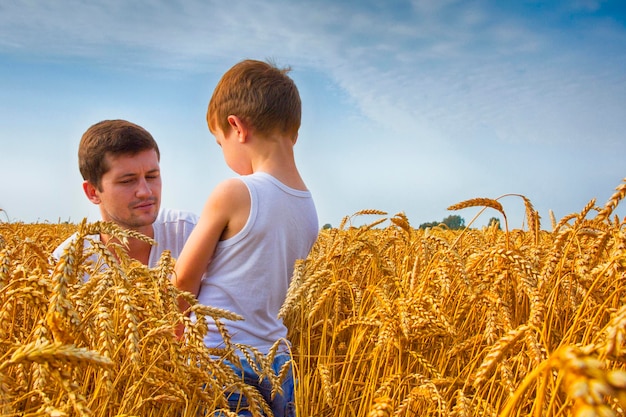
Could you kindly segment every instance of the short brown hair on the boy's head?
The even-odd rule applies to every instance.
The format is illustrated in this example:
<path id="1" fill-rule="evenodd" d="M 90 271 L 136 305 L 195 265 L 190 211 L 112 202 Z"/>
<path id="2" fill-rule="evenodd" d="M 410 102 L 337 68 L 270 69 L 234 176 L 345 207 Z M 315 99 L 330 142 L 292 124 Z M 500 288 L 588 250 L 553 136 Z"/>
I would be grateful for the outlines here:
<path id="1" fill-rule="evenodd" d="M 229 129 L 234 115 L 259 135 L 281 134 L 295 139 L 300 129 L 302 104 L 298 88 L 287 75 L 290 68 L 244 60 L 221 78 L 209 102 L 207 123 L 211 133 Z"/>

